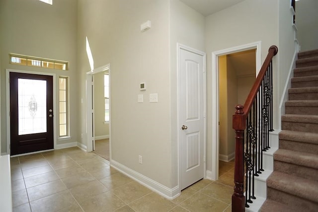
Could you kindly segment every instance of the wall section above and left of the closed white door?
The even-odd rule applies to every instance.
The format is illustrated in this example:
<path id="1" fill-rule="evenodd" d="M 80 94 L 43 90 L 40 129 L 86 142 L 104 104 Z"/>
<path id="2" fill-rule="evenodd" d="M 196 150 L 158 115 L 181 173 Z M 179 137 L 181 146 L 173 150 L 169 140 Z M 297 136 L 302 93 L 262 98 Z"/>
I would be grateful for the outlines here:
<path id="1" fill-rule="evenodd" d="M 205 52 L 205 18 L 179 0 L 169 0 L 172 184 L 178 183 L 177 43 Z"/>

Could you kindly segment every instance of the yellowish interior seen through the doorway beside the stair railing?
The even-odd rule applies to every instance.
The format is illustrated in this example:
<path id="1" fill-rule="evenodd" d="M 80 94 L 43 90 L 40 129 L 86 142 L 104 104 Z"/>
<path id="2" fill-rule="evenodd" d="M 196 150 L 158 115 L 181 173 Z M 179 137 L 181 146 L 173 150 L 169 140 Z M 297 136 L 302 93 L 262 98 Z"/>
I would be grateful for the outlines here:
<path id="1" fill-rule="evenodd" d="M 236 105 L 244 105 L 255 81 L 255 49 L 224 54 L 219 64 L 219 178 L 233 179 L 235 131 L 232 115 Z M 232 186 L 231 182 L 231 186 Z"/>

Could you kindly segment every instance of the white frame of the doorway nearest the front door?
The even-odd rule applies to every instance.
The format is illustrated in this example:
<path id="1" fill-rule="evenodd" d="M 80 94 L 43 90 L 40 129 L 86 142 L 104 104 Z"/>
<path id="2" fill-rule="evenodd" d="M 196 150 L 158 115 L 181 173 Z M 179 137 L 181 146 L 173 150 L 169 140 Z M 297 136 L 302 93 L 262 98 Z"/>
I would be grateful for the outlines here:
<path id="1" fill-rule="evenodd" d="M 91 152 L 93 151 L 93 129 L 95 131 L 95 126 L 92 120 L 91 114 L 94 114 L 94 111 L 92 110 L 92 101 L 93 101 L 93 96 L 92 96 L 92 79 L 93 75 L 103 72 L 103 71 L 108 71 L 109 74 L 109 111 L 111 111 L 111 86 L 110 86 L 110 63 L 103 65 L 98 68 L 94 68 L 92 71 L 89 71 L 86 73 L 86 141 L 87 141 L 87 146 L 86 146 L 86 151 Z M 109 113 L 109 160 L 111 159 L 111 115 Z"/>

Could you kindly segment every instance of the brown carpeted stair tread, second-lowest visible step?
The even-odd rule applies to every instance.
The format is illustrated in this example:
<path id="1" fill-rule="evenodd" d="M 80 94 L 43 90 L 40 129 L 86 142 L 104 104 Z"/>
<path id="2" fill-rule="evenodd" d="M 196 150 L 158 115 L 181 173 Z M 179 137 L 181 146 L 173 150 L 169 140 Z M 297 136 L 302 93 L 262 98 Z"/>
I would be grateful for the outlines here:
<path id="1" fill-rule="evenodd" d="M 273 171 L 267 179 L 267 187 L 318 203 L 318 181 Z"/>

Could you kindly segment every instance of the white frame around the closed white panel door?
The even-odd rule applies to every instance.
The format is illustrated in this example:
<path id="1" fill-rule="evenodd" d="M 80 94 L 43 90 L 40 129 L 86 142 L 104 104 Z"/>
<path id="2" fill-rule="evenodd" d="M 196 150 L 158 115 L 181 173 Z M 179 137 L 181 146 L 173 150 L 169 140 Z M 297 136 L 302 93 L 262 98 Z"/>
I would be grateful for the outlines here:
<path id="1" fill-rule="evenodd" d="M 207 104 L 206 104 L 206 53 L 204 52 L 201 52 L 199 50 L 195 50 L 191 47 L 188 47 L 188 46 L 185 46 L 185 45 L 182 45 L 182 44 L 179 44 L 177 43 L 177 149 L 178 149 L 178 153 L 177 153 L 177 156 L 178 156 L 178 187 L 179 187 L 179 191 L 181 192 L 181 131 L 180 131 L 180 128 L 181 128 L 181 114 L 180 114 L 180 50 L 185 50 L 185 51 L 188 51 L 188 52 L 191 52 L 191 53 L 196 53 L 196 54 L 199 54 L 201 56 L 204 57 L 203 59 L 203 64 L 204 64 L 204 67 L 203 67 L 203 72 L 204 72 L 204 79 L 203 79 L 203 82 L 204 82 L 204 85 L 203 85 L 203 97 L 204 97 L 204 101 L 203 101 L 203 105 L 204 105 L 204 178 L 206 178 L 206 144 L 207 144 L 207 118 L 206 118 L 206 108 L 207 108 Z"/>

